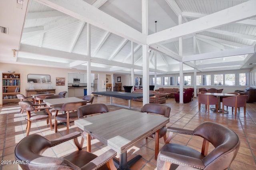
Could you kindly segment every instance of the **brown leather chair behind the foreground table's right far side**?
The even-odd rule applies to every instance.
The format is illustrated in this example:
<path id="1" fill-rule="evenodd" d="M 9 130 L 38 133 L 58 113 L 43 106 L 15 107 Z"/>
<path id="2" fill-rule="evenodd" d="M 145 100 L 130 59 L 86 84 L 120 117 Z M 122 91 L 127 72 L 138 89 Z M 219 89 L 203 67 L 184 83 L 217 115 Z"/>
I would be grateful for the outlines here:
<path id="1" fill-rule="evenodd" d="M 170 112 L 171 112 L 171 107 L 164 105 L 164 104 L 145 104 L 141 110 L 141 112 L 146 112 L 146 113 L 155 113 L 155 114 L 160 114 L 163 115 L 164 117 L 170 117 Z M 159 131 L 159 139 L 161 137 L 164 137 L 164 141 L 166 141 L 166 132 L 167 129 L 166 127 L 161 127 Z M 155 138 L 155 133 L 152 133 L 149 137 Z"/>

